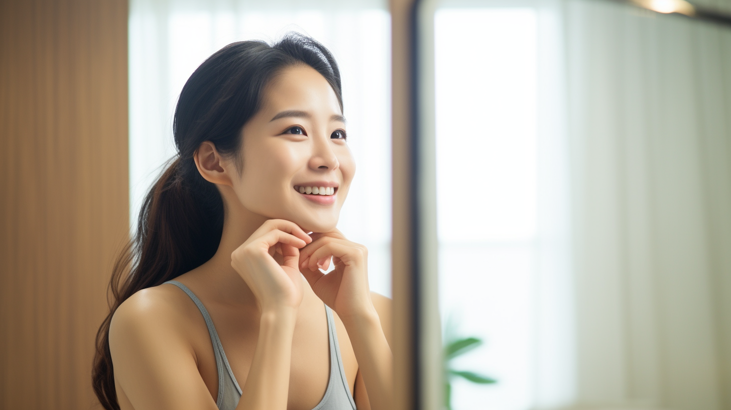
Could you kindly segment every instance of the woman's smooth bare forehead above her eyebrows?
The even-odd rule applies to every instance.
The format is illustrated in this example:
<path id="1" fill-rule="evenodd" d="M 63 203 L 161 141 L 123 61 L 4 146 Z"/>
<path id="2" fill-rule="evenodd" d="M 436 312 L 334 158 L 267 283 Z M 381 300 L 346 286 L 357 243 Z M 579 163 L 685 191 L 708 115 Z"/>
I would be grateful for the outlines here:
<path id="1" fill-rule="evenodd" d="M 341 113 L 333 87 L 317 70 L 298 64 L 281 70 L 262 93 L 262 111 L 276 113 L 297 109 L 330 116 Z"/>

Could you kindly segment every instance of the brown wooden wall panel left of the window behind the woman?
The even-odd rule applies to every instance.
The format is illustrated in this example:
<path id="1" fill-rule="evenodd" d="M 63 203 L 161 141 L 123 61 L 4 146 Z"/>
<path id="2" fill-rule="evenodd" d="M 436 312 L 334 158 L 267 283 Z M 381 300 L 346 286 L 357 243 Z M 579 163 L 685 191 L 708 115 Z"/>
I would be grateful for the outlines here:
<path id="1" fill-rule="evenodd" d="M 94 336 L 129 224 L 127 8 L 0 0 L 0 409 L 96 403 Z"/>

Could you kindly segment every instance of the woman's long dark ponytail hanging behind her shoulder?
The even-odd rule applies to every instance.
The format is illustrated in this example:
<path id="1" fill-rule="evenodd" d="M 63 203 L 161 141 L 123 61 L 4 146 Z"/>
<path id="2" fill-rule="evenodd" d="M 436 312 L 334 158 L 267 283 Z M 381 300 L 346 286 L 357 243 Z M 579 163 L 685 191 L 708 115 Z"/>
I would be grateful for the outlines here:
<path id="1" fill-rule="evenodd" d="M 105 409 L 119 410 L 109 350 L 109 327 L 119 305 L 141 289 L 158 286 L 202 265 L 221 242 L 221 195 L 208 182 L 198 190 L 191 189 L 192 184 L 181 174 L 178 157 L 145 195 L 135 237 L 123 248 L 112 270 L 110 312 L 96 333 L 91 376 Z"/>

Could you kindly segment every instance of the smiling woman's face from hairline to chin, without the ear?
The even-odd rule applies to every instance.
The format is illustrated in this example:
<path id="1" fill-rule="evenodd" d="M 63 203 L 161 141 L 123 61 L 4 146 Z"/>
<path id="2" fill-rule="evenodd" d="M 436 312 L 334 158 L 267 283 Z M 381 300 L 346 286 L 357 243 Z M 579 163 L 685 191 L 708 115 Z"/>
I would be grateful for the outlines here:
<path id="1" fill-rule="evenodd" d="M 233 188 L 246 209 L 305 231 L 335 228 L 355 161 L 338 97 L 319 72 L 304 64 L 284 69 L 242 136 L 243 171 Z"/>

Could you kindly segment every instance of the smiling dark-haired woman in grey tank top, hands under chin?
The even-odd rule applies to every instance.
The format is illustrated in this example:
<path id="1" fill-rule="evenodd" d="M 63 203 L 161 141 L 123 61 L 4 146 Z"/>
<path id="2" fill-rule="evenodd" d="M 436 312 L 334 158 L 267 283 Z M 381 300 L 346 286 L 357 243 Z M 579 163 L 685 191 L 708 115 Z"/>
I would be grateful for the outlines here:
<path id="1" fill-rule="evenodd" d="M 298 34 L 227 45 L 191 75 L 178 157 L 113 272 L 106 409 L 390 407 L 390 300 L 335 228 L 355 173 L 342 108 L 333 56 Z"/>

